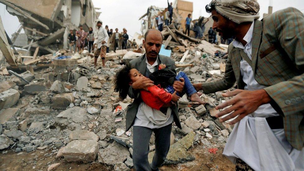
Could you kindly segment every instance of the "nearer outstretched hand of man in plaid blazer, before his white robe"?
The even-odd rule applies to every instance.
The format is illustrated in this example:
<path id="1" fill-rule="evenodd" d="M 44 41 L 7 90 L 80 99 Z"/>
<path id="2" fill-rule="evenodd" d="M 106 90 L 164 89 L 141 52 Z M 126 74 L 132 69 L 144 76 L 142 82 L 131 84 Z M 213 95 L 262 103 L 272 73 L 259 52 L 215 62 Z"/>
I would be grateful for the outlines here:
<path id="1" fill-rule="evenodd" d="M 235 96 L 215 107 L 217 110 L 219 110 L 232 105 L 231 107 L 228 107 L 227 109 L 216 114 L 216 117 L 221 117 L 232 112 L 224 118 L 221 118 L 220 122 L 224 122 L 238 116 L 233 121 L 229 122 L 230 125 L 237 123 L 246 115 L 253 113 L 259 106 L 266 104 L 271 100 L 268 93 L 264 89 L 254 91 L 236 89 L 223 93 L 222 95 L 224 97 Z"/>

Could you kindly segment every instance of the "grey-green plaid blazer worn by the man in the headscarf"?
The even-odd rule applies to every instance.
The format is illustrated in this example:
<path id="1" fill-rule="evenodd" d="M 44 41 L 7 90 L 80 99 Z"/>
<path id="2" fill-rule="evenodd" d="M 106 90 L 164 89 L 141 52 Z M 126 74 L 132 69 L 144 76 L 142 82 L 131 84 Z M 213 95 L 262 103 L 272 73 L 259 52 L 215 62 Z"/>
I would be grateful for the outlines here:
<path id="1" fill-rule="evenodd" d="M 202 83 L 204 93 L 231 88 L 237 83 L 244 89 L 241 78 L 244 50 L 228 47 L 225 76 Z M 245 59 L 245 57 L 243 57 Z M 250 60 L 250 59 L 249 59 Z M 252 60 L 248 62 L 255 80 L 272 98 L 270 104 L 284 117 L 284 130 L 292 147 L 304 146 L 304 16 L 292 7 L 275 12 L 262 21 L 254 21 Z"/>

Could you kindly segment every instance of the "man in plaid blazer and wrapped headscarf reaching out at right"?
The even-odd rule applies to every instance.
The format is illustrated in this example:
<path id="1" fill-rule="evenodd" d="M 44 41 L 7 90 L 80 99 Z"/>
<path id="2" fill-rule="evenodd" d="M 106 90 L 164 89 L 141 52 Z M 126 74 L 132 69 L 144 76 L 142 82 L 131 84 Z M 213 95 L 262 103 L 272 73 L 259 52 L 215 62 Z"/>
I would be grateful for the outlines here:
<path id="1" fill-rule="evenodd" d="M 194 84 L 208 94 L 237 83 L 216 107 L 232 105 L 216 117 L 236 123 L 223 154 L 236 170 L 304 170 L 303 14 L 290 7 L 259 21 L 255 0 L 213 0 L 206 11 L 223 39 L 235 36 L 224 78 Z"/>

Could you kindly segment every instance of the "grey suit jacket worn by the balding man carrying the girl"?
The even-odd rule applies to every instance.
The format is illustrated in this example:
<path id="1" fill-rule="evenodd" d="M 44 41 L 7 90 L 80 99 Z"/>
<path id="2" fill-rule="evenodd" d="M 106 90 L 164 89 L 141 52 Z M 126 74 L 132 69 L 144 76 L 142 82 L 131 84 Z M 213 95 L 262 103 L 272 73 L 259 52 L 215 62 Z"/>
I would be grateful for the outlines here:
<path id="1" fill-rule="evenodd" d="M 133 60 L 130 61 L 130 64 L 135 67 L 141 74 L 144 76 L 148 77 L 148 75 L 145 75 L 146 69 L 147 69 L 147 63 L 146 63 L 146 56 L 145 54 L 142 56 L 139 56 Z M 158 56 L 158 65 L 155 66 L 159 67 L 159 64 L 165 64 L 169 69 L 172 69 L 175 73 L 175 61 L 172 58 L 159 55 Z M 136 114 L 137 114 L 137 109 L 142 101 L 140 97 L 140 91 L 139 90 L 134 90 L 132 86 L 129 87 L 129 92 L 128 92 L 129 97 L 134 98 L 133 103 L 128 105 L 127 109 L 127 116 L 126 116 L 126 131 L 128 131 L 131 126 L 134 123 Z M 181 124 L 178 116 L 178 106 L 172 106 L 172 113 L 173 114 L 173 121 L 175 122 L 175 125 L 178 126 L 181 129 Z"/>

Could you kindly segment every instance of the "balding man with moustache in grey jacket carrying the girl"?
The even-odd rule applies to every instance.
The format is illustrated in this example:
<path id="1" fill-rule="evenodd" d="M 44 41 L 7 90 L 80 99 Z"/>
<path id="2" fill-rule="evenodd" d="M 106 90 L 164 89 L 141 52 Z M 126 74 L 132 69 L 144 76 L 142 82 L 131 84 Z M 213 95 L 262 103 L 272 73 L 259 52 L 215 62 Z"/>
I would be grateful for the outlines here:
<path id="1" fill-rule="evenodd" d="M 162 42 L 163 37 L 160 31 L 155 29 L 148 30 L 145 34 L 145 40 L 143 40 L 146 53 L 130 61 L 132 66 L 146 77 L 156 71 L 159 64 L 165 64 L 169 69 L 176 72 L 175 62 L 172 58 L 158 55 Z M 169 152 L 173 120 L 175 125 L 181 128 L 177 105 L 172 106 L 172 103 L 167 104 L 168 107 L 171 106 L 169 108 L 171 116 L 168 121 L 162 125 L 156 125 L 149 121 L 147 116 L 141 111 L 141 107 L 139 106 L 143 101 L 140 98 L 140 90 L 153 86 L 153 81 L 146 77 L 140 77 L 130 86 L 128 95 L 134 98 L 134 101 L 131 106 L 128 107 L 126 114 L 126 131 L 133 126 L 133 163 L 135 170 L 138 171 L 159 170 L 158 168 L 163 164 Z M 179 93 L 183 91 L 184 87 L 183 78 L 181 81 L 175 81 L 173 83 L 173 88 Z M 167 107 L 160 109 L 160 111 L 167 110 Z M 155 134 L 155 154 L 150 165 L 148 153 L 152 132 Z"/>

